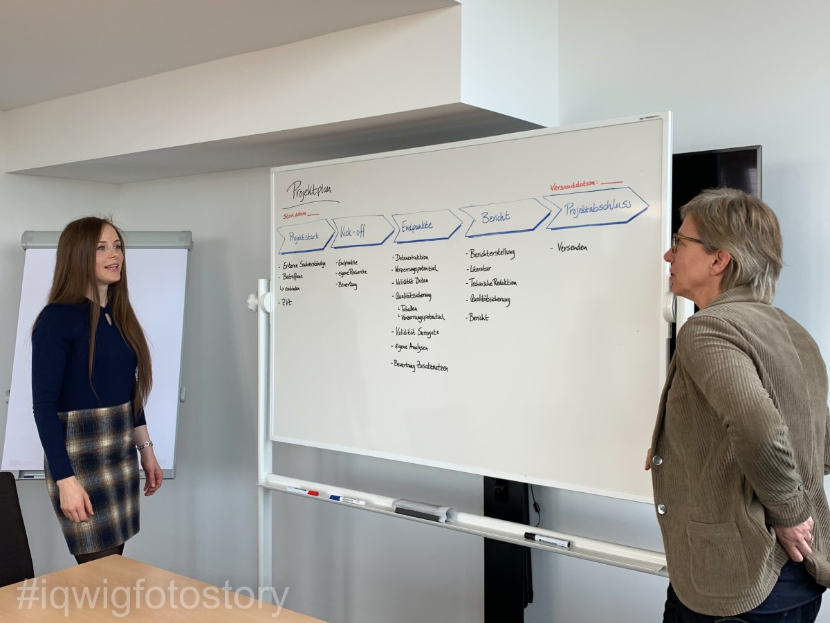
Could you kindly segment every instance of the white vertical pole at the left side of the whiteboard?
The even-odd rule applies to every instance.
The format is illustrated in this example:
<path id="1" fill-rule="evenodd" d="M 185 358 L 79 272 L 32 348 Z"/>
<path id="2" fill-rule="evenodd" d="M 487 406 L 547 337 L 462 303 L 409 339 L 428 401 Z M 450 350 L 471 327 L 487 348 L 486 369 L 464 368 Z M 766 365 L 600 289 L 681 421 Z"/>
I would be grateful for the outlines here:
<path id="1" fill-rule="evenodd" d="M 271 282 L 260 279 L 257 282 L 256 294 L 248 297 L 248 308 L 256 312 L 257 320 L 257 370 L 259 370 L 259 388 L 257 394 L 257 424 L 256 424 L 256 478 L 257 483 L 265 480 L 266 474 L 273 468 L 271 454 L 271 439 L 268 434 L 268 404 L 269 404 L 269 343 L 271 341 Z M 257 517 L 259 520 L 259 539 L 256 550 L 256 579 L 258 586 L 272 586 L 271 576 L 274 572 L 273 556 L 273 519 L 271 517 L 271 491 L 257 487 L 256 493 Z M 270 593 L 269 593 L 270 594 Z M 270 597 L 272 599 L 272 597 Z"/>

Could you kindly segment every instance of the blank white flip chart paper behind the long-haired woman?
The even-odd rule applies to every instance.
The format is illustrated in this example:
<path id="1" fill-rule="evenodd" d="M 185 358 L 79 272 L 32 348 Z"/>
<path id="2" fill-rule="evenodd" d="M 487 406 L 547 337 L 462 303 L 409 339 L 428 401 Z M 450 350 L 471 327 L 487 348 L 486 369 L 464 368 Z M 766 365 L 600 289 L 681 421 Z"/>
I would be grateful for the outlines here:
<path id="1" fill-rule="evenodd" d="M 2 469 L 43 469 L 43 448 L 32 415 L 31 333 L 37 314 L 46 305 L 55 257 L 55 248 L 26 251 Z M 173 470 L 188 249 L 129 248 L 127 266 L 129 299 L 153 359 L 153 390 L 144 410 L 147 427 L 159 465 Z"/>

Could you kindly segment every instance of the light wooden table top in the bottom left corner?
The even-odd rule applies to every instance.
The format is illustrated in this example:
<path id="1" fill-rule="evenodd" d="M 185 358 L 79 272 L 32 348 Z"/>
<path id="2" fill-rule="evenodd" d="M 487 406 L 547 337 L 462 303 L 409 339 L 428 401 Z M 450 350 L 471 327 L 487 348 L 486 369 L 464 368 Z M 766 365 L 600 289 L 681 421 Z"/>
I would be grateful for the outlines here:
<path id="1" fill-rule="evenodd" d="M 267 595 L 256 588 L 235 593 L 132 558 L 110 556 L 3 586 L 0 620 L 320 623 L 252 599 L 251 591 Z M 276 593 L 276 600 L 285 600 L 282 591 Z"/>

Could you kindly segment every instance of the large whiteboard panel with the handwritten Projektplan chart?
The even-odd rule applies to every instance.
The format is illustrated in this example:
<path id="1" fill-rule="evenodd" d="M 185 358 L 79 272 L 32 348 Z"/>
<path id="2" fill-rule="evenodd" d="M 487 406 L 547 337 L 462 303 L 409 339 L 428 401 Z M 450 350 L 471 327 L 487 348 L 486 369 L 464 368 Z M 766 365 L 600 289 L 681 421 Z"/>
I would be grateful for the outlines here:
<path id="1" fill-rule="evenodd" d="M 650 501 L 670 137 L 272 169 L 271 439 Z"/>

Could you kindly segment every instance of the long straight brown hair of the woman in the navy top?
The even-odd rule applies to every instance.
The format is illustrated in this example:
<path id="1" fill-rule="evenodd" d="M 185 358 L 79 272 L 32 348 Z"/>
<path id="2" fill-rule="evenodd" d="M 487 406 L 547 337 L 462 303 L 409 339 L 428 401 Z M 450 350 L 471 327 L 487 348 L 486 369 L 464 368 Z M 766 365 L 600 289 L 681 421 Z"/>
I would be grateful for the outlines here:
<path id="1" fill-rule="evenodd" d="M 147 339 L 144 330 L 135 317 L 133 306 L 129 304 L 129 290 L 127 288 L 127 253 L 124 233 L 115 226 L 109 218 L 88 216 L 72 221 L 61 233 L 57 243 L 57 257 L 55 261 L 55 276 L 52 278 L 49 303 L 64 303 L 73 305 L 88 299 L 90 304 L 90 359 L 89 375 L 92 385 L 92 365 L 95 361 L 95 330 L 100 320 L 100 292 L 98 281 L 95 278 L 95 249 L 98 247 L 101 232 L 105 225 L 110 225 L 121 241 L 121 251 L 124 253 L 124 262 L 121 266 L 121 278 L 107 287 L 107 299 L 112 307 L 115 326 L 125 339 L 129 347 L 138 358 L 139 366 L 133 390 L 133 417 L 138 420 L 147 404 L 147 397 L 153 387 L 153 364 L 150 361 Z M 41 312 L 42 313 L 42 312 Z M 40 320 L 37 316 L 35 325 Z"/>

